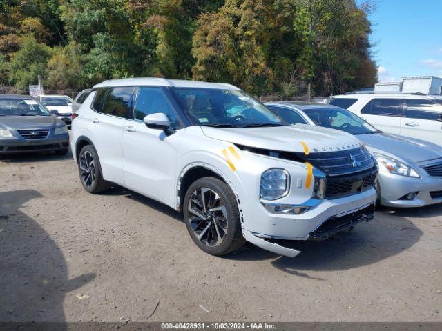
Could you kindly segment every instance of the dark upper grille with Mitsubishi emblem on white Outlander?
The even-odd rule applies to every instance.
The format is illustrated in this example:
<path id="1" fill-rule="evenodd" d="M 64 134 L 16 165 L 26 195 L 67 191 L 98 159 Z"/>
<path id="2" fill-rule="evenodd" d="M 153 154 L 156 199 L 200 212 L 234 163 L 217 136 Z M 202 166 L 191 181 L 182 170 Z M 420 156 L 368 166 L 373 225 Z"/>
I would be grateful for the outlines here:
<path id="1" fill-rule="evenodd" d="M 338 152 L 311 153 L 307 161 L 328 176 L 361 172 L 374 167 L 374 160 L 365 147 Z"/>

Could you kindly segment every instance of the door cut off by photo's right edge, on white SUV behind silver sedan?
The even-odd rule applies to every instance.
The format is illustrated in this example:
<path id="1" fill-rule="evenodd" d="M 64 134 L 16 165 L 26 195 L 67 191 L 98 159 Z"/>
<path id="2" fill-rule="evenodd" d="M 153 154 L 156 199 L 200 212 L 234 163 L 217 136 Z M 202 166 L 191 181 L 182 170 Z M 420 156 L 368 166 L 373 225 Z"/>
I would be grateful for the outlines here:
<path id="1" fill-rule="evenodd" d="M 405 99 L 401 134 L 442 145 L 442 105 L 430 99 Z"/>

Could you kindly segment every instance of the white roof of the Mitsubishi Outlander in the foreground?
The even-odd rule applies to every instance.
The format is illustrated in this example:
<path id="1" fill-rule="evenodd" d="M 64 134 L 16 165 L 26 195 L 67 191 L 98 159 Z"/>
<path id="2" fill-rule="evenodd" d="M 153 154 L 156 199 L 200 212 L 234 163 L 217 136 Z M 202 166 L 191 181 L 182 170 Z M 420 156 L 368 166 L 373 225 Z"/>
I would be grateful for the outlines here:
<path id="1" fill-rule="evenodd" d="M 115 86 L 175 86 L 177 88 L 219 88 L 227 90 L 240 90 L 227 83 L 207 83 L 205 81 L 186 81 L 181 79 L 164 78 L 126 78 L 111 79 L 95 85 L 93 88 L 111 88 Z"/>

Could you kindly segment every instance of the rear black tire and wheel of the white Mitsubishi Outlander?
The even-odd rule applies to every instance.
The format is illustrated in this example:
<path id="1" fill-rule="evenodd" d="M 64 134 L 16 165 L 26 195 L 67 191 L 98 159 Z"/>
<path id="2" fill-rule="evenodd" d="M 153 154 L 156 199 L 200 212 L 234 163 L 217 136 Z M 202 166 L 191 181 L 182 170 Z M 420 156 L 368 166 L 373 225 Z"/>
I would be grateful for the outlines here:
<path id="1" fill-rule="evenodd" d="M 90 173 L 90 178 L 88 179 L 87 172 L 85 174 L 82 170 L 85 168 L 84 161 L 86 161 L 86 158 L 90 159 L 90 157 L 92 157 L 93 166 L 86 164 L 86 168 L 88 168 Z M 83 169 L 81 167 L 83 167 Z M 98 154 L 92 145 L 86 145 L 84 148 L 81 148 L 78 157 L 78 172 L 81 185 L 83 185 L 83 188 L 89 193 L 96 194 L 111 188 L 112 183 L 103 179 Z"/>

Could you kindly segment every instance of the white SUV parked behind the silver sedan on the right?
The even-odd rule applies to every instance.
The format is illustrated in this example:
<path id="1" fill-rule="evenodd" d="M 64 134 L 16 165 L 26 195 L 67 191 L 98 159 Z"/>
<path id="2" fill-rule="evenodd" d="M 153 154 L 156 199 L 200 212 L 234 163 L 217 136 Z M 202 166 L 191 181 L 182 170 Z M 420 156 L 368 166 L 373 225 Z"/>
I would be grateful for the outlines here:
<path id="1" fill-rule="evenodd" d="M 442 146 L 442 104 L 434 96 L 349 93 L 334 96 L 330 104 L 354 112 L 379 130 Z"/>

